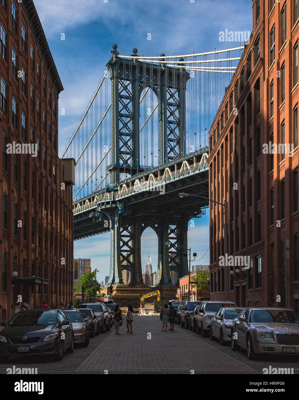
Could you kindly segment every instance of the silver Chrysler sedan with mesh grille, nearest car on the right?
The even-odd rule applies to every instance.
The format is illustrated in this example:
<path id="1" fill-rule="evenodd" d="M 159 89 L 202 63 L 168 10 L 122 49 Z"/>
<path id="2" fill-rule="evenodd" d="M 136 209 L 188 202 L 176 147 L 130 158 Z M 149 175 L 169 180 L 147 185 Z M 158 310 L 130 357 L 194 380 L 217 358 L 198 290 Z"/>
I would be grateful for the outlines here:
<path id="1" fill-rule="evenodd" d="M 231 326 L 231 349 L 258 354 L 299 355 L 299 316 L 290 308 L 244 308 Z"/>

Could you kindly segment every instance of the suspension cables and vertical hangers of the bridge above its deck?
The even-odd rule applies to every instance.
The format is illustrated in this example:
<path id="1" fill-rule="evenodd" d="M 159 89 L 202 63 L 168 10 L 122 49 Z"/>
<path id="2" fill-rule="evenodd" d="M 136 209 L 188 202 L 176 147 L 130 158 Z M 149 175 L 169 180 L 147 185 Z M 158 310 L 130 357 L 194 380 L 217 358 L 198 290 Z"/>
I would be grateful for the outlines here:
<path id="1" fill-rule="evenodd" d="M 124 62 L 124 76 L 130 75 L 131 64 L 138 64 L 140 74 L 147 74 L 151 82 L 140 94 L 139 110 L 139 151 L 137 168 L 151 168 L 159 163 L 159 103 L 153 86 L 153 70 L 159 74 L 163 68 L 167 70 L 168 78 L 175 81 L 179 71 L 185 70 L 189 73 L 186 90 L 186 131 L 184 135 L 184 153 L 193 152 L 208 144 L 208 130 L 213 121 L 217 109 L 221 103 L 225 88 L 229 86 L 235 68 L 243 54 L 244 46 L 241 44 L 234 48 L 214 48 L 211 51 L 187 53 L 183 55 L 161 54 L 153 56 L 138 56 L 137 53 L 121 55 Z M 137 49 L 134 49 L 137 50 Z M 224 56 L 221 58 L 221 56 Z M 126 67 L 125 67 L 126 60 Z M 128 61 L 129 60 L 129 61 Z M 158 68 L 157 68 L 158 67 Z M 123 86 L 121 86 L 123 85 Z M 120 93 L 123 92 L 124 107 L 130 107 L 130 96 L 132 86 L 120 83 Z M 177 118 L 175 109 L 177 99 L 172 89 L 167 88 L 171 100 L 167 108 L 173 120 Z M 132 128 L 132 120 L 129 116 L 123 116 L 120 110 L 120 132 L 128 132 Z M 171 128 L 169 128 L 171 129 Z M 79 200 L 98 190 L 102 190 L 110 183 L 110 173 L 107 167 L 112 162 L 112 89 L 110 73 L 108 69 L 104 72 L 96 91 L 94 92 L 88 107 L 86 108 L 76 130 L 72 134 L 70 142 L 64 149 L 61 157 L 75 158 L 75 180 L 73 200 Z M 128 134 L 130 136 L 130 134 Z M 175 137 L 173 139 L 173 152 L 175 154 Z M 130 139 L 128 139 L 128 143 Z M 120 148 L 126 147 L 126 143 L 120 143 Z M 124 151 L 124 157 L 129 157 Z M 183 153 L 183 152 L 182 152 Z M 181 154 L 179 154 L 181 155 Z M 167 162 L 168 157 L 163 162 Z M 132 163 L 131 163 L 132 164 Z M 124 164 L 125 165 L 125 164 Z M 132 165 L 126 165 L 120 179 L 132 175 Z"/>

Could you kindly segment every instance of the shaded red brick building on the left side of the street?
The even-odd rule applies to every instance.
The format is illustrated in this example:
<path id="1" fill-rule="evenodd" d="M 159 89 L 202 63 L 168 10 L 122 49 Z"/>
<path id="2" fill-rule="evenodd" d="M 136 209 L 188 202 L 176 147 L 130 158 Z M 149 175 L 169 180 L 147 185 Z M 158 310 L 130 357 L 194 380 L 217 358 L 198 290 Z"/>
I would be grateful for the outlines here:
<path id="1" fill-rule="evenodd" d="M 72 182 L 58 157 L 63 87 L 33 1 L 1 0 L 0 31 L 0 318 L 9 320 L 19 295 L 33 308 L 72 299 Z"/>

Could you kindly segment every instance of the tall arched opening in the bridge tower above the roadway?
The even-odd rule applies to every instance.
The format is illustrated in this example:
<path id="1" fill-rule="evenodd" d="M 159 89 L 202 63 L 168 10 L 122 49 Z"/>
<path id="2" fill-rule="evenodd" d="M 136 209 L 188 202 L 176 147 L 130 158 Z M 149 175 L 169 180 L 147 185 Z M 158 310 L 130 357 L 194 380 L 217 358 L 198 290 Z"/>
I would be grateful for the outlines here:
<path id="1" fill-rule="evenodd" d="M 159 162 L 159 104 L 155 92 L 144 88 L 140 94 L 139 164 L 155 167 Z"/>

